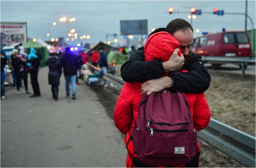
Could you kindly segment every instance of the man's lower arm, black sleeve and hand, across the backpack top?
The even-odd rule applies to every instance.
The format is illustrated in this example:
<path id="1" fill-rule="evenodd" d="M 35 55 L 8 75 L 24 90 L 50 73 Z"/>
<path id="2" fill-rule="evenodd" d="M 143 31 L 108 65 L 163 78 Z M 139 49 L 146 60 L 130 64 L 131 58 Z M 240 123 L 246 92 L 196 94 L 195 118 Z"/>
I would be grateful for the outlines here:
<path id="1" fill-rule="evenodd" d="M 209 88 L 211 76 L 204 66 L 200 55 L 192 53 L 188 64 L 184 65 L 182 69 L 186 69 L 189 72 L 170 73 L 169 77 L 144 82 L 141 85 L 141 94 L 147 93 L 147 95 L 150 95 L 153 92 L 158 92 L 165 88 L 173 91 L 203 93 Z"/>

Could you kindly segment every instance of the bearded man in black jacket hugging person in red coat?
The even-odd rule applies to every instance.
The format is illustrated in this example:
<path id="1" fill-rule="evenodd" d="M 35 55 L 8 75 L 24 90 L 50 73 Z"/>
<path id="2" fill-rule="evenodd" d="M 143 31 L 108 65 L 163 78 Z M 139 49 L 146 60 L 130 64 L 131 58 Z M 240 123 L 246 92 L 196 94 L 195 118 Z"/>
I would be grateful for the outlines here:
<path id="1" fill-rule="evenodd" d="M 179 41 L 182 50 L 181 57 L 177 55 L 179 49 L 175 49 L 166 62 L 158 60 L 145 62 L 144 47 L 140 47 L 121 66 L 123 80 L 126 82 L 146 81 L 141 85 L 141 94 L 147 93 L 147 95 L 161 91 L 164 88 L 173 91 L 203 93 L 208 89 L 211 77 L 203 64 L 201 56 L 190 51 L 193 42 L 193 28 L 191 25 L 183 19 L 174 19 L 166 28 L 158 28 L 151 34 L 160 31 L 170 33 Z M 189 72 L 170 73 L 169 76 L 162 77 L 167 72 L 181 69 L 186 69 Z"/>

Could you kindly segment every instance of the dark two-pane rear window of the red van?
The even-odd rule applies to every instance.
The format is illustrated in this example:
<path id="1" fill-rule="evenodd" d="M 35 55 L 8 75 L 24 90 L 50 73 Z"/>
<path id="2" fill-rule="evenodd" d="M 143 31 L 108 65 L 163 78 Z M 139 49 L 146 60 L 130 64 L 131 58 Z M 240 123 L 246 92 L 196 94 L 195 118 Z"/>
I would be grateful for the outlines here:
<path id="1" fill-rule="evenodd" d="M 237 32 L 237 33 L 224 33 L 223 34 L 223 43 L 249 43 L 246 33 Z"/>

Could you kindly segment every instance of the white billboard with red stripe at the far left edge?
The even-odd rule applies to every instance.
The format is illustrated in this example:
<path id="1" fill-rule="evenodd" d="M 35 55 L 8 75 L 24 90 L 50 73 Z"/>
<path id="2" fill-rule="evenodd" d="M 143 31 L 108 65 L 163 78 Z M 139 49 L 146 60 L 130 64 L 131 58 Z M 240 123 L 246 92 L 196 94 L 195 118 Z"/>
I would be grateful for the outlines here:
<path id="1" fill-rule="evenodd" d="M 27 23 L 1 22 L 1 46 L 27 42 Z"/>

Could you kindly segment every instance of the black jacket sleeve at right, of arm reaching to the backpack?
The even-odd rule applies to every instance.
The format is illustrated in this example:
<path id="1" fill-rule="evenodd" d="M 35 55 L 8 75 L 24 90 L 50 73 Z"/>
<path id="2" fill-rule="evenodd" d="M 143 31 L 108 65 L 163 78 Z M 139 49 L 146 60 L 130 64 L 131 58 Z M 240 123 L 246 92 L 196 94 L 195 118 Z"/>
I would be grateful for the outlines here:
<path id="1" fill-rule="evenodd" d="M 173 85 L 170 90 L 203 93 L 209 88 L 211 76 L 200 55 L 192 53 L 191 59 L 187 64 L 184 64 L 182 69 L 186 69 L 189 72 L 170 73 L 169 77 L 173 79 Z"/>

